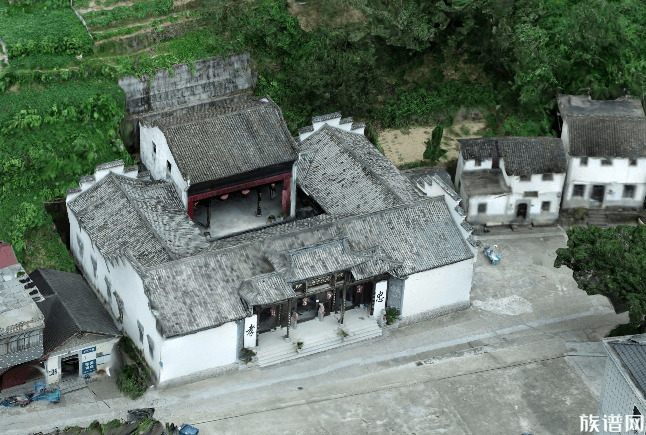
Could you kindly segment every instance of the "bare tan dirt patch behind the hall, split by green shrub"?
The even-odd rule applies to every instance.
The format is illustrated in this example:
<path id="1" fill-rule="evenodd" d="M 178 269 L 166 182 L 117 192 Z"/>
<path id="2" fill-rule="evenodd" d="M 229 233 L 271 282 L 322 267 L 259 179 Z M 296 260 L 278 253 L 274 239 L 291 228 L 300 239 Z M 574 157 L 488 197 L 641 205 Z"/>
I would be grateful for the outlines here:
<path id="1" fill-rule="evenodd" d="M 384 154 L 395 165 L 417 162 L 424 154 L 424 142 L 431 138 L 435 125 L 410 127 L 408 130 L 387 129 L 379 132 L 379 143 L 384 149 Z M 442 149 L 448 152 L 440 159 L 440 166 L 446 165 L 450 160 L 457 159 L 460 153 L 460 144 L 457 139 L 470 139 L 482 137 L 487 128 L 484 120 L 465 120 L 460 123 L 455 117 L 453 125 L 444 127 L 442 135 Z M 464 131 L 463 131 L 464 129 Z"/>

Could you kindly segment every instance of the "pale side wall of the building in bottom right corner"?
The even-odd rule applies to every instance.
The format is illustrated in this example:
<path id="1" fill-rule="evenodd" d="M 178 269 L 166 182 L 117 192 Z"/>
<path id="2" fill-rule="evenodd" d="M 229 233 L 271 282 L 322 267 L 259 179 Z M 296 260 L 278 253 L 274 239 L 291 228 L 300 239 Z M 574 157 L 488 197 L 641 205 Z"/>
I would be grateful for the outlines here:
<path id="1" fill-rule="evenodd" d="M 621 415 L 622 420 L 625 415 L 632 415 L 633 408 L 637 409 L 646 415 L 646 403 L 644 402 L 643 396 L 638 396 L 621 372 L 617 368 L 613 358 L 608 357 L 606 361 L 606 369 L 603 375 L 603 389 L 601 392 L 601 399 L 599 400 L 599 432 L 600 434 L 610 434 L 618 432 L 607 432 L 603 428 L 603 416 L 604 415 Z M 625 423 L 622 424 L 621 432 L 622 434 L 631 434 L 630 432 L 625 432 Z"/>

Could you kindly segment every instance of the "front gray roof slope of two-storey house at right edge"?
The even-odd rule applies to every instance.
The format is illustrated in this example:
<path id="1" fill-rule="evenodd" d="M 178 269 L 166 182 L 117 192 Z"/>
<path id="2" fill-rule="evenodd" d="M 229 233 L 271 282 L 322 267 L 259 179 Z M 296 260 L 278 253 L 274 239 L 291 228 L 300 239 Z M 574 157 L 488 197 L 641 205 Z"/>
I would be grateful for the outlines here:
<path id="1" fill-rule="evenodd" d="M 571 156 L 646 157 L 646 118 L 570 115 Z"/>

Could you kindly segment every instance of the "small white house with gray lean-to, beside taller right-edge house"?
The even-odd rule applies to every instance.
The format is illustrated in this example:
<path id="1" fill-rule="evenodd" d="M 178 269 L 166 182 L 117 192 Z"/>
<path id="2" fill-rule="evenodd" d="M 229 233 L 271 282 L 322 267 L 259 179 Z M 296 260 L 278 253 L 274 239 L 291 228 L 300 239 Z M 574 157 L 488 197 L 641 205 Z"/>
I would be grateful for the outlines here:
<path id="1" fill-rule="evenodd" d="M 458 139 L 455 174 L 466 221 L 472 225 L 557 221 L 567 160 L 561 139 Z"/>

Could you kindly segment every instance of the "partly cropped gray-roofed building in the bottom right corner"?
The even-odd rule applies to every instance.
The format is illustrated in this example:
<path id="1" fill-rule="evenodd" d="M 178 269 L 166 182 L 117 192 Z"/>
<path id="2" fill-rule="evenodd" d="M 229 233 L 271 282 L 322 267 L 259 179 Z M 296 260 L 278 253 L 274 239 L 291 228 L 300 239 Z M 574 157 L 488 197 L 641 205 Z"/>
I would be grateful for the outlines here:
<path id="1" fill-rule="evenodd" d="M 608 359 L 599 400 L 598 433 L 643 433 L 644 426 L 638 432 L 630 425 L 646 416 L 646 334 L 604 338 L 603 347 Z M 603 418 L 610 415 L 620 416 L 619 428 L 604 427 Z"/>

